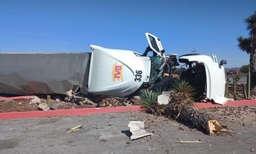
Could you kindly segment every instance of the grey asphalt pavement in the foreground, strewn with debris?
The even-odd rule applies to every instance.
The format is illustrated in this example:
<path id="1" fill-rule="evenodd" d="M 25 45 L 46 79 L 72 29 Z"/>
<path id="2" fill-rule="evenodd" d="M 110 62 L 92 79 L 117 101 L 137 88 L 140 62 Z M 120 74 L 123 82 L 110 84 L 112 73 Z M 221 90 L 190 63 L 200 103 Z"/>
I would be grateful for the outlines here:
<path id="1" fill-rule="evenodd" d="M 255 153 L 255 109 L 244 115 L 244 121 L 231 116 L 219 121 L 235 132 L 224 136 L 209 136 L 143 112 L 0 120 L 0 153 Z M 144 121 L 152 138 L 130 141 L 130 120 Z M 82 129 L 65 134 L 76 125 Z"/>

